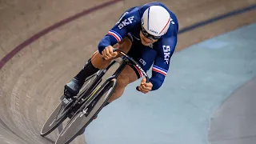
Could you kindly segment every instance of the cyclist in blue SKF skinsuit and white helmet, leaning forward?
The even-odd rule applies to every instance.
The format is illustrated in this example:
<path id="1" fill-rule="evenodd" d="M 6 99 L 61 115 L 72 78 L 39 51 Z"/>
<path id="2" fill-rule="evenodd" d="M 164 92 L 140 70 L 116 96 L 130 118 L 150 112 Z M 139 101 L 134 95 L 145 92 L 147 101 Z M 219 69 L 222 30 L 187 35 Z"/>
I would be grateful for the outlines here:
<path id="1" fill-rule="evenodd" d="M 178 19 L 161 2 L 149 2 L 134 6 L 119 18 L 119 21 L 98 43 L 98 50 L 92 54 L 74 78 L 65 86 L 71 95 L 78 94 L 85 79 L 98 70 L 104 69 L 115 58 L 120 57 L 113 49 L 120 49 L 134 58 L 142 69 L 147 71 L 152 66 L 152 77 L 146 83 L 142 78 L 138 87 L 146 94 L 158 90 L 166 77 L 170 58 L 177 44 Z M 126 86 L 142 77 L 135 66 L 127 65 L 118 76 L 118 85 L 107 104 L 122 96 Z M 107 105 L 106 104 L 106 105 Z"/>

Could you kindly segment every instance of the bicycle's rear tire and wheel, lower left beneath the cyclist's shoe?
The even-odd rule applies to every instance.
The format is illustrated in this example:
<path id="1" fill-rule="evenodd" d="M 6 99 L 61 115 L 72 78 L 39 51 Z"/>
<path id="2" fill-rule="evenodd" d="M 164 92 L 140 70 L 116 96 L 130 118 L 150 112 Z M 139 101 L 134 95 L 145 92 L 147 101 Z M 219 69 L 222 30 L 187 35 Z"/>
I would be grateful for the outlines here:
<path id="1" fill-rule="evenodd" d="M 86 79 L 86 83 L 84 86 L 82 86 L 82 89 L 79 93 L 83 94 L 86 92 L 86 90 L 90 87 L 90 82 L 94 82 L 91 80 L 95 80 L 98 77 L 97 74 L 92 75 L 90 78 Z M 89 82 L 87 82 L 89 80 Z M 46 119 L 46 122 L 42 126 L 42 129 L 40 131 L 40 135 L 42 137 L 46 136 L 47 134 L 50 134 L 53 130 L 55 130 L 69 115 L 67 114 L 69 110 L 64 110 L 66 108 L 62 105 L 62 102 L 58 103 L 58 106 L 52 111 L 50 116 Z M 60 118 L 58 118 L 59 114 L 62 114 Z M 57 119 L 57 121 L 55 121 Z"/>

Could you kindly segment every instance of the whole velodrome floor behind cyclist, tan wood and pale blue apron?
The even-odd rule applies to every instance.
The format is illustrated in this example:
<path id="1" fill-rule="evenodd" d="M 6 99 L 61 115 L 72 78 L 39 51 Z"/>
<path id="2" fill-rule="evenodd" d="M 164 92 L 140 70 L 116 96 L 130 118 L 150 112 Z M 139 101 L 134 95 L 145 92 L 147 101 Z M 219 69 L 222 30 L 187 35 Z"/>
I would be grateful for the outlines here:
<path id="1" fill-rule="evenodd" d="M 147 0 L 0 0 L 0 143 L 39 133 L 98 42 Z M 256 0 L 162 0 L 179 34 L 161 89 L 130 84 L 72 143 L 254 144 Z M 150 71 L 149 71 L 150 74 Z"/>

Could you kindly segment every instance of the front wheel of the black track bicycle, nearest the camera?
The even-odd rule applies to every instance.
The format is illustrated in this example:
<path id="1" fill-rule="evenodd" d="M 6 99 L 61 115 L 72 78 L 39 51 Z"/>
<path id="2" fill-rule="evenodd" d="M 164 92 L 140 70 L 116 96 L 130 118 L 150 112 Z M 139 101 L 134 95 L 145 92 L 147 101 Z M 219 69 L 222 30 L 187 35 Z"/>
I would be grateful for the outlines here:
<path id="1" fill-rule="evenodd" d="M 83 131 L 86 126 L 94 119 L 94 117 L 102 110 L 106 105 L 106 102 L 113 94 L 115 87 L 117 85 L 117 79 L 112 79 L 106 82 L 106 85 L 101 86 L 94 97 L 94 106 L 88 114 L 88 108 L 84 107 L 79 109 L 74 116 L 70 119 L 69 123 L 65 126 L 62 132 L 59 134 L 55 144 L 66 144 L 74 140 L 81 131 Z"/>

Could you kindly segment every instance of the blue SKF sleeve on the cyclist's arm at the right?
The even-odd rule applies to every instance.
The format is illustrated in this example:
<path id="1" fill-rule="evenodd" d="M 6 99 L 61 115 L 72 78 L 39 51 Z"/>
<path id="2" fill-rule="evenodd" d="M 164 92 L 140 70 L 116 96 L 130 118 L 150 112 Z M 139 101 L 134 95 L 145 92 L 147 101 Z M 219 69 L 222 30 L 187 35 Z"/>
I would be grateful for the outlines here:
<path id="1" fill-rule="evenodd" d="M 156 43 L 158 54 L 154 60 L 152 77 L 150 78 L 150 82 L 153 84 L 152 90 L 158 90 L 162 86 L 169 70 L 170 58 L 174 54 L 176 44 L 177 38 L 174 36 Z"/>

